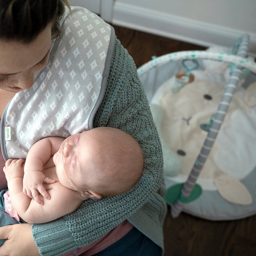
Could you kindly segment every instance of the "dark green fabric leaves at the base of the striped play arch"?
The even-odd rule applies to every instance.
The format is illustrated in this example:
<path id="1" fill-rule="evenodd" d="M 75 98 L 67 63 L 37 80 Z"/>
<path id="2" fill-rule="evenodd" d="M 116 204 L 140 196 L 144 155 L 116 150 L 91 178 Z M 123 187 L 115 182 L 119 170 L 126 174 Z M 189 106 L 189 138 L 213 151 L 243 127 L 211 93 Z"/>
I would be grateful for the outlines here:
<path id="1" fill-rule="evenodd" d="M 200 185 L 195 184 L 189 197 L 182 197 L 180 192 L 184 183 L 177 183 L 169 187 L 164 195 L 165 202 L 167 204 L 174 204 L 179 199 L 182 203 L 189 203 L 196 200 L 202 194 L 202 188 Z"/>

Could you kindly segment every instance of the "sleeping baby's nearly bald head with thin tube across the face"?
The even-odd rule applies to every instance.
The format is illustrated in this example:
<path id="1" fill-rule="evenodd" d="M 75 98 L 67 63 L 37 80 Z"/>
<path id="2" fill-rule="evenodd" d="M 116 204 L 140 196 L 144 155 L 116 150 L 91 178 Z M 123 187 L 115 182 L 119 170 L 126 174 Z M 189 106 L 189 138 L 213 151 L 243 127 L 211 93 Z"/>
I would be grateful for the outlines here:
<path id="1" fill-rule="evenodd" d="M 92 198 L 130 190 L 144 167 L 139 143 L 128 133 L 111 127 L 71 135 L 62 143 L 59 155 L 63 166 L 57 166 L 58 161 L 55 164 L 60 182 Z M 68 184 L 59 177 L 64 174 Z"/>

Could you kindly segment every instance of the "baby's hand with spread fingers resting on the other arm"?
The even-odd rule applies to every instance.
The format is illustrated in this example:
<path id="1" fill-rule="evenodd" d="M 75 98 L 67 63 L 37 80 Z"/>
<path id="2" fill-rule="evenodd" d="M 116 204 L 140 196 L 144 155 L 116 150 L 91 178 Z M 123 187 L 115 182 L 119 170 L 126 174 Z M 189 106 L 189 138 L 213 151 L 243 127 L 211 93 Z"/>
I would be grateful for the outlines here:
<path id="1" fill-rule="evenodd" d="M 43 204 L 39 194 L 50 200 L 50 196 L 44 188 L 43 182 L 52 184 L 56 182 L 56 180 L 46 177 L 42 171 L 26 171 L 23 178 L 23 193 L 34 199 L 37 203 Z"/>

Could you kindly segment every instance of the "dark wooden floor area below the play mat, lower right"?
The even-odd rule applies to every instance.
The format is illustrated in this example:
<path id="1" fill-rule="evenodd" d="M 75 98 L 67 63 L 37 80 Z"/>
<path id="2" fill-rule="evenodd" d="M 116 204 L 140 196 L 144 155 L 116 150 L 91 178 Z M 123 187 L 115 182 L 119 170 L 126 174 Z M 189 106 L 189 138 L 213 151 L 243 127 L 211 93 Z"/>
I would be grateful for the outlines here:
<path id="1" fill-rule="evenodd" d="M 210 221 L 181 213 L 164 222 L 165 256 L 255 256 L 256 216 Z"/>

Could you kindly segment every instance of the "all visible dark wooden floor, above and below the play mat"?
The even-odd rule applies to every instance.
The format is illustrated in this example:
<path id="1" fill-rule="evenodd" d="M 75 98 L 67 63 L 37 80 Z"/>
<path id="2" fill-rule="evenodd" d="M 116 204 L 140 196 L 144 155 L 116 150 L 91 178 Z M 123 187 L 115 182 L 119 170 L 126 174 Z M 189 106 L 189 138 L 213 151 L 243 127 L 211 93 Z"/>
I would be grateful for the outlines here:
<path id="1" fill-rule="evenodd" d="M 114 26 L 117 38 L 137 67 L 166 53 L 205 48 Z M 164 222 L 164 256 L 256 256 L 256 215 L 213 222 L 182 213 L 172 219 L 170 207 Z"/>

